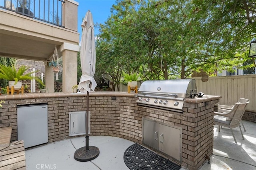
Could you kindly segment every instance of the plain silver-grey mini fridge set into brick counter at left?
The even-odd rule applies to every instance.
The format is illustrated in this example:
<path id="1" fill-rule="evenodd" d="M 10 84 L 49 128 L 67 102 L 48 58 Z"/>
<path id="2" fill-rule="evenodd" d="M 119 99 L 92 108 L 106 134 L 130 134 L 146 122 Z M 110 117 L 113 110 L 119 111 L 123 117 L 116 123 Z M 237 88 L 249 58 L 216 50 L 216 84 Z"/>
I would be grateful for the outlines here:
<path id="1" fill-rule="evenodd" d="M 17 106 L 17 135 L 25 148 L 48 143 L 47 113 L 47 104 Z"/>

